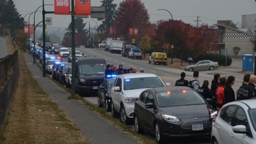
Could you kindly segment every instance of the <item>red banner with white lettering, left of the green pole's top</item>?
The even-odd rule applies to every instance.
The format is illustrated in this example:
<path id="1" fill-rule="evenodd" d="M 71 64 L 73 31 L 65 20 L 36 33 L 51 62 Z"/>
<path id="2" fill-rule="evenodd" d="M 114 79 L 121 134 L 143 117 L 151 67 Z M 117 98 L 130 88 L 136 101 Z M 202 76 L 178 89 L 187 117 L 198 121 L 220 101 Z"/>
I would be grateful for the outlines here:
<path id="1" fill-rule="evenodd" d="M 54 0 L 54 14 L 70 14 L 70 0 Z"/>

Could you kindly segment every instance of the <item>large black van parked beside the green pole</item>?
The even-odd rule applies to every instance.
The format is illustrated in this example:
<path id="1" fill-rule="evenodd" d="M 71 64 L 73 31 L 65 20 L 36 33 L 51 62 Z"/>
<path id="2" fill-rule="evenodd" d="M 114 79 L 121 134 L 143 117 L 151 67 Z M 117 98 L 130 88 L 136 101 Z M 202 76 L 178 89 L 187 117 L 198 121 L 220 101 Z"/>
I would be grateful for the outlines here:
<path id="1" fill-rule="evenodd" d="M 107 62 L 104 57 L 76 57 L 76 93 L 97 94 L 98 86 L 105 78 Z"/>

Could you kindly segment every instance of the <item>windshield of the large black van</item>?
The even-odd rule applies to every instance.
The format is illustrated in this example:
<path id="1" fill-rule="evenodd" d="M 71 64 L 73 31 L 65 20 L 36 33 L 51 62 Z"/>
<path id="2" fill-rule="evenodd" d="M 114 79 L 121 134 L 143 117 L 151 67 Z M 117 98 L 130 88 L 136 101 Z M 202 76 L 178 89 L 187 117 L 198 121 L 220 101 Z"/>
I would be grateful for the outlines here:
<path id="1" fill-rule="evenodd" d="M 79 73 L 81 75 L 104 74 L 106 69 L 105 64 L 83 64 L 79 65 Z"/>

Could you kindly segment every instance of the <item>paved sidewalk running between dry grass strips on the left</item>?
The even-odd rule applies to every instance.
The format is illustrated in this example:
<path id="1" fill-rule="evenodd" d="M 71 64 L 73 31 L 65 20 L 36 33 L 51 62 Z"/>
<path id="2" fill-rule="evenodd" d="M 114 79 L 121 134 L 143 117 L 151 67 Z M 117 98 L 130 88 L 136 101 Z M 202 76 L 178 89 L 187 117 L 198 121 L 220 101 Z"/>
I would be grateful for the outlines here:
<path id="1" fill-rule="evenodd" d="M 50 95 L 52 101 L 66 112 L 66 116 L 73 122 L 82 135 L 92 144 L 140 144 L 138 140 L 128 132 L 122 132 L 118 127 L 112 125 L 100 114 L 89 110 L 81 101 L 69 100 L 69 94 L 62 90 L 50 78 L 43 77 L 43 73 L 36 64 L 33 57 L 23 53 L 26 65 L 33 77 L 38 81 L 43 90 Z"/>

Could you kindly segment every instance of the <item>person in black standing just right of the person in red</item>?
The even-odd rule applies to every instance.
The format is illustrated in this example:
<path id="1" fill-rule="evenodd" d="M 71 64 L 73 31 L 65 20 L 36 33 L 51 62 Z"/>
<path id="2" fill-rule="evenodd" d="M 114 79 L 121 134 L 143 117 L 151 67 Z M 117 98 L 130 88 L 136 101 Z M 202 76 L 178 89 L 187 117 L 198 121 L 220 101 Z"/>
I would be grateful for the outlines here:
<path id="1" fill-rule="evenodd" d="M 232 89 L 232 85 L 235 84 L 235 77 L 228 76 L 228 80 L 226 82 L 226 86 L 224 88 L 224 104 L 235 101 L 235 92 Z"/>

